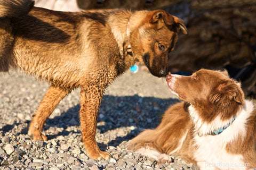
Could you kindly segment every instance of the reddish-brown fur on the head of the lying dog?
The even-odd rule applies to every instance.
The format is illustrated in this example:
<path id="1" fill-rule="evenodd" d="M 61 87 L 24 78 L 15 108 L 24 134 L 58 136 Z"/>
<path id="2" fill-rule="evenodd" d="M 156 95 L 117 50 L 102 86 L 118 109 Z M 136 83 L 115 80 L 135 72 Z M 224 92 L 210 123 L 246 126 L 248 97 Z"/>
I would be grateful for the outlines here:
<path id="1" fill-rule="evenodd" d="M 201 69 L 191 76 L 177 78 L 175 85 L 169 87 L 181 100 L 193 104 L 205 122 L 214 120 L 218 116 L 215 113 L 222 114 L 222 120 L 229 120 L 244 105 L 240 84 L 225 72 Z"/>

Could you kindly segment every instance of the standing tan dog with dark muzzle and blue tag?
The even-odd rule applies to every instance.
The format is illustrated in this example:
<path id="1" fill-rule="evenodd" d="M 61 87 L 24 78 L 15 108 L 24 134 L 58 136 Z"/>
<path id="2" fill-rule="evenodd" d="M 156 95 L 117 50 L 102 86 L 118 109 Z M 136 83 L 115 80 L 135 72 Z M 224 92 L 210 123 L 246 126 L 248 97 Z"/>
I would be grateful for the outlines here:
<path id="1" fill-rule="evenodd" d="M 29 135 L 47 140 L 42 129 L 60 100 L 81 88 L 82 139 L 89 157 L 109 158 L 95 141 L 103 92 L 136 62 L 163 77 L 167 53 L 183 21 L 163 10 L 102 13 L 59 12 L 30 0 L 0 0 L 0 71 L 23 70 L 51 84 L 34 114 Z"/>

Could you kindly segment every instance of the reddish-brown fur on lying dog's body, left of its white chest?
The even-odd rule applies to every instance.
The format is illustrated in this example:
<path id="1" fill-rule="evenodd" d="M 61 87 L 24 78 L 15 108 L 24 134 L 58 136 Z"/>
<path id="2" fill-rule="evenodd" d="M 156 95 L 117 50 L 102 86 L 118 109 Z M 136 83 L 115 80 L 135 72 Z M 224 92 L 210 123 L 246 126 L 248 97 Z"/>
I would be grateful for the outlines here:
<path id="1" fill-rule="evenodd" d="M 188 103 L 181 102 L 171 106 L 163 116 L 161 124 L 154 130 L 145 130 L 137 137 L 129 142 L 133 150 L 138 150 L 141 147 L 155 148 L 163 154 L 169 154 L 180 145 L 180 139 L 187 135 L 185 141 L 189 140 L 189 135 L 186 133 L 193 128 L 193 122 L 189 118 L 187 112 Z M 188 141 L 187 141 L 188 142 Z M 180 146 L 181 147 L 181 146 Z M 182 145 L 182 148 L 185 145 Z M 186 147 L 179 152 L 183 159 L 193 162 L 188 155 L 193 153 L 193 150 L 186 150 Z M 195 161 L 193 162 L 195 163 Z"/>

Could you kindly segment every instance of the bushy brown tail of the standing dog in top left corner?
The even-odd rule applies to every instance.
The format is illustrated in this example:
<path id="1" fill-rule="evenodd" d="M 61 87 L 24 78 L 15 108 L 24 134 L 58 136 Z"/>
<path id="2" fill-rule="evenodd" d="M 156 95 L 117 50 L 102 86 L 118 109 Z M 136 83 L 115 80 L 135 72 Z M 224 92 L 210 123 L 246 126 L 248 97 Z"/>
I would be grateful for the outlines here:
<path id="1" fill-rule="evenodd" d="M 0 18 L 25 15 L 34 3 L 32 0 L 0 0 Z"/>

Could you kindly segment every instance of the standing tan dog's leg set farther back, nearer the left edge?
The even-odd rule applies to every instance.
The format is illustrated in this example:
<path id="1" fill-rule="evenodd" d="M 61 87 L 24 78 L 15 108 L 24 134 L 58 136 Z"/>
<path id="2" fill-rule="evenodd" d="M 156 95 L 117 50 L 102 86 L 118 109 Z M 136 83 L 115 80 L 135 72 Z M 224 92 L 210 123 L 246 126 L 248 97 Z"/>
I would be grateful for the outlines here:
<path id="1" fill-rule="evenodd" d="M 70 91 L 54 86 L 49 87 L 29 126 L 28 134 L 33 140 L 47 140 L 46 136 L 42 134 L 44 122 L 51 115 L 60 100 Z"/>

